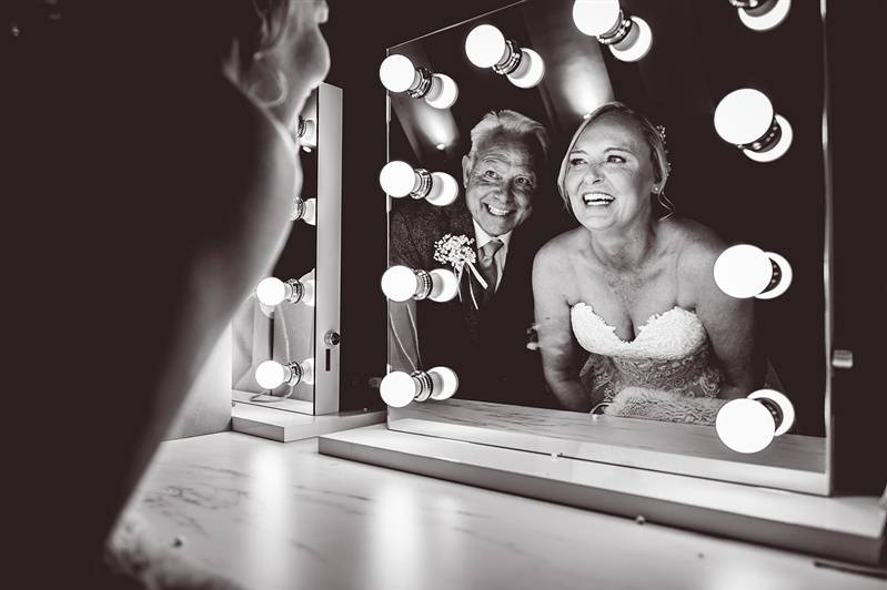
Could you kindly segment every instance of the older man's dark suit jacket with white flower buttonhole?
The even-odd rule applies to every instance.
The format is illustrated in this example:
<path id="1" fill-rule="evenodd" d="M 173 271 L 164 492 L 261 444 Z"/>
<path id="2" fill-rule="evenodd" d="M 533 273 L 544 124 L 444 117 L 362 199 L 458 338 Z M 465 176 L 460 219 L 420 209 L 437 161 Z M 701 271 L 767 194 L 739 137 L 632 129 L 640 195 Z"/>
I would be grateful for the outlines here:
<path id="1" fill-rule="evenodd" d="M 458 399 L 560 407 L 546 394 L 538 352 L 526 347 L 533 324 L 533 257 L 546 237 L 533 231 L 531 221 L 514 230 L 498 288 L 480 309 L 474 308 L 466 281 L 460 286 L 461 301 L 416 302 L 421 368 L 444 365 L 455 370 Z M 434 260 L 434 243 L 444 234 L 475 238 L 462 199 L 445 207 L 424 201 L 397 203 L 389 231 L 390 264 L 425 271 L 452 271 Z M 473 246 L 476 253 L 477 244 Z"/>

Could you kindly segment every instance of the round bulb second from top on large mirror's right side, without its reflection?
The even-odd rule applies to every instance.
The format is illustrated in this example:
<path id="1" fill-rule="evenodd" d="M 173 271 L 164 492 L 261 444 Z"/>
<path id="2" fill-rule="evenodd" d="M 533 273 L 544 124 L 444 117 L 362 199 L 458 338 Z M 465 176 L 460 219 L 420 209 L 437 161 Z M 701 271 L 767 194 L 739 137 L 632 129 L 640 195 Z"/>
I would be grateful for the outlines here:
<path id="1" fill-rule="evenodd" d="M 760 139 L 773 123 L 773 103 L 752 88 L 734 90 L 715 109 L 715 131 L 729 143 L 742 145 Z"/>

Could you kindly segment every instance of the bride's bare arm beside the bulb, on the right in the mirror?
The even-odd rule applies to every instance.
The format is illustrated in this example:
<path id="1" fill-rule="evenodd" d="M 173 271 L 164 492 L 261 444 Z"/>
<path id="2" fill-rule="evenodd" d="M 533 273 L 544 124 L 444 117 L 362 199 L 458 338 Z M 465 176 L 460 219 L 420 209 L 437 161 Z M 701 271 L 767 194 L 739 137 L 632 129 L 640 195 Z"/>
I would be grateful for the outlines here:
<path id="1" fill-rule="evenodd" d="M 682 255 L 682 266 L 695 293 L 696 315 L 724 372 L 718 397 L 729 399 L 747 396 L 763 375 L 755 352 L 754 299 L 730 297 L 715 283 L 713 269 L 723 250 L 714 240 L 694 244 Z"/>

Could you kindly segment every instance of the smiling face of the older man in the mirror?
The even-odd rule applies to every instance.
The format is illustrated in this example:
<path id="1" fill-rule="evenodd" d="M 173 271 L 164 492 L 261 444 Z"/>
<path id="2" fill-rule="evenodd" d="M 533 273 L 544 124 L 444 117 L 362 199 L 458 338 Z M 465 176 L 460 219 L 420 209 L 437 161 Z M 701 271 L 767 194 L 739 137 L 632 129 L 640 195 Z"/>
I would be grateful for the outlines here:
<path id="1" fill-rule="evenodd" d="M 462 159 L 465 203 L 477 225 L 492 235 L 506 234 L 533 211 L 540 150 L 527 138 L 494 132 Z"/>

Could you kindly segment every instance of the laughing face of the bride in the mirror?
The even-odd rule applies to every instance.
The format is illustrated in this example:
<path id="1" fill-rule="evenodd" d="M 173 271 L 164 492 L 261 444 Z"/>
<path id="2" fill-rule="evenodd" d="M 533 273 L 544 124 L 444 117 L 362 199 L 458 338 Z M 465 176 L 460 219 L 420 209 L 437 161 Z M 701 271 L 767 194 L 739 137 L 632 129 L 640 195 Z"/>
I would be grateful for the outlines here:
<path id="1" fill-rule="evenodd" d="M 626 115 L 602 115 L 567 154 L 564 187 L 574 215 L 589 230 L 648 220 L 654 185 L 651 148 Z"/>

